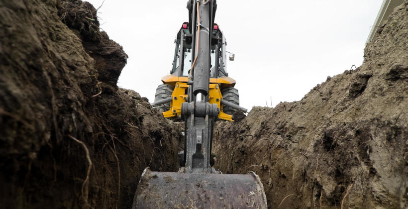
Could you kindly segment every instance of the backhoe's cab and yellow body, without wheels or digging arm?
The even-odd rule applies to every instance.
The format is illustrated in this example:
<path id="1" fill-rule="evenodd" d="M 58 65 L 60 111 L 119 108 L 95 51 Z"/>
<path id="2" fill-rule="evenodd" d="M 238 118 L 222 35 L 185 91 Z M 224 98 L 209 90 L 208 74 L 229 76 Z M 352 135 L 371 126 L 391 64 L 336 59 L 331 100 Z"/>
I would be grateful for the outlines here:
<path id="1" fill-rule="evenodd" d="M 184 102 L 188 102 L 188 89 L 190 85 L 188 84 L 188 73 L 185 71 L 189 72 L 190 69 L 184 69 L 186 67 L 184 63 L 189 59 L 185 54 L 188 53 L 188 50 L 191 50 L 192 57 L 190 62 L 194 60 L 193 57 L 195 56 L 191 44 L 193 34 L 190 32 L 191 29 L 189 25 L 189 22 L 184 22 L 183 26 L 180 28 L 175 40 L 176 47 L 173 68 L 170 71 L 170 75 L 162 78 L 163 84 L 168 84 L 174 87 L 170 109 L 163 112 L 164 117 L 181 116 L 181 105 Z M 228 87 L 234 87 L 236 82 L 234 79 L 228 77 L 228 73 L 226 72 L 227 52 L 225 46 L 227 43 L 222 31 L 215 23 L 213 24 L 211 32 L 211 43 L 211 53 L 214 53 L 215 59 L 212 62 L 214 66 L 211 67 L 210 72 L 209 96 L 205 102 L 217 104 L 217 107 L 220 108 L 218 118 L 232 121 L 232 115 L 223 112 L 224 104 L 221 104 L 221 90 Z M 190 66 L 191 68 L 191 64 L 187 66 Z"/>

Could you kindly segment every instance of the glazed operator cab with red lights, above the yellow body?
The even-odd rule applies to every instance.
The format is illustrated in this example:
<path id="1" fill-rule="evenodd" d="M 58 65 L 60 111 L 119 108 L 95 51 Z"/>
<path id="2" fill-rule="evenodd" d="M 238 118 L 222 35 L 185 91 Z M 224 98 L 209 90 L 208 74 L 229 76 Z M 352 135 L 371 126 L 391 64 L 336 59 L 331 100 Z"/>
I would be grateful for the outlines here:
<path id="1" fill-rule="evenodd" d="M 189 76 L 192 62 L 194 61 L 192 52 L 193 35 L 190 32 L 189 22 L 184 22 L 174 41 L 176 44 L 173 68 L 170 74 L 175 76 Z M 214 23 L 211 35 L 210 49 L 210 77 L 220 78 L 228 76 L 226 71 L 226 41 L 218 25 Z M 230 59 L 231 60 L 231 59 Z"/>

